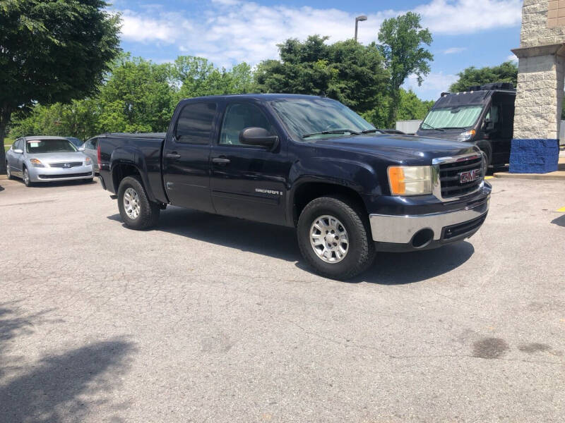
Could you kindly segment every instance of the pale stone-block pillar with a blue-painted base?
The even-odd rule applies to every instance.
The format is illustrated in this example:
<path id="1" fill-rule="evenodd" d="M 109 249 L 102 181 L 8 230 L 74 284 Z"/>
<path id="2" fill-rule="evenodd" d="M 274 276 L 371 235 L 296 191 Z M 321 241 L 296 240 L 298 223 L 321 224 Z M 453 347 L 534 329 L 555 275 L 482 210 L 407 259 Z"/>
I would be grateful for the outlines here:
<path id="1" fill-rule="evenodd" d="M 557 170 L 565 81 L 565 0 L 524 0 L 510 171 Z"/>

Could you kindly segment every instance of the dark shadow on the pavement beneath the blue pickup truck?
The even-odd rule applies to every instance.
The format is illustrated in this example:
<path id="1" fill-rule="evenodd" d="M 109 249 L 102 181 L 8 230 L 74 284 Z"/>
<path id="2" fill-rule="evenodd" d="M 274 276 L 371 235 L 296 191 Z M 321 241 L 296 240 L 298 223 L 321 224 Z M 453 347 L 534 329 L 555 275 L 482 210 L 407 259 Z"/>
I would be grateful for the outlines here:
<path id="1" fill-rule="evenodd" d="M 119 214 L 108 219 L 121 222 Z M 154 230 L 295 262 L 300 269 L 314 273 L 300 255 L 294 228 L 169 207 L 161 213 Z M 474 252 L 468 242 L 436 250 L 379 252 L 371 269 L 348 282 L 386 285 L 420 282 L 456 269 Z"/>

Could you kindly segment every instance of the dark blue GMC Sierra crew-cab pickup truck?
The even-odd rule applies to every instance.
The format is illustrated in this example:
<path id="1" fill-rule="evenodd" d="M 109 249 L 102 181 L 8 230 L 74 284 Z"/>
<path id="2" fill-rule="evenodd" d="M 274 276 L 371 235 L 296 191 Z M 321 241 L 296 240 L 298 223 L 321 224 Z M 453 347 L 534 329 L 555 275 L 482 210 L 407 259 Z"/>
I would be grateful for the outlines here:
<path id="1" fill-rule="evenodd" d="M 381 134 L 323 97 L 184 99 L 167 133 L 104 134 L 97 148 L 129 228 L 154 226 L 168 204 L 292 226 L 304 259 L 336 279 L 377 251 L 469 238 L 489 209 L 476 146 Z"/>

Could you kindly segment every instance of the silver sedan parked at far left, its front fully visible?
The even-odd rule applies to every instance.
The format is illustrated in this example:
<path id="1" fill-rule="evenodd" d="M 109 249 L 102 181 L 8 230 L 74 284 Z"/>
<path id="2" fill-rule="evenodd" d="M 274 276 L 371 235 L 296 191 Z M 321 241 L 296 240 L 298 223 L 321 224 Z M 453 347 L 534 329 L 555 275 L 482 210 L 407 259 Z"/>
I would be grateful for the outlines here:
<path id="1" fill-rule="evenodd" d="M 22 137 L 6 152 L 8 178 L 25 186 L 54 180 L 93 180 L 93 162 L 64 137 Z"/>

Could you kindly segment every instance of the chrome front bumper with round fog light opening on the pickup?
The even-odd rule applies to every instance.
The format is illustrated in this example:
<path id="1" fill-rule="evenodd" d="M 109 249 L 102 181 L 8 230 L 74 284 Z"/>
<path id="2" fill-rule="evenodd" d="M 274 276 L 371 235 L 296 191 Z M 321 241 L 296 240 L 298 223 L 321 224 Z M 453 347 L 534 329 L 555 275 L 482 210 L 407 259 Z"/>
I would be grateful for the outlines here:
<path id="1" fill-rule="evenodd" d="M 393 216 L 369 214 L 378 250 L 419 250 L 470 237 L 489 211 L 490 195 L 463 209 L 430 214 Z"/>

